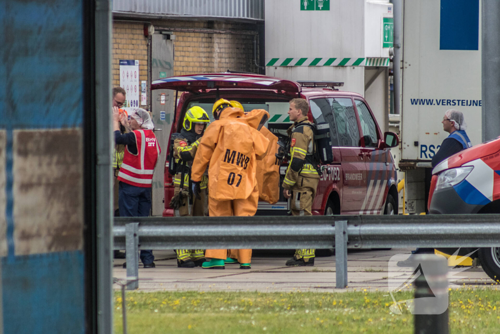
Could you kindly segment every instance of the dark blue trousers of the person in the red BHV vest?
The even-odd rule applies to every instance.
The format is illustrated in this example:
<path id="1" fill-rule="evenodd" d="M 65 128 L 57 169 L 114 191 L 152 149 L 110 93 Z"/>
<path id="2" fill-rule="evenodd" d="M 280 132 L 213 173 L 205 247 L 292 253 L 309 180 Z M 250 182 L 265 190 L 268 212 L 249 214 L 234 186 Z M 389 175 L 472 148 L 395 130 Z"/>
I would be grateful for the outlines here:
<path id="1" fill-rule="evenodd" d="M 151 210 L 151 188 L 132 186 L 121 182 L 118 185 L 118 210 L 120 217 L 147 217 Z M 152 250 L 141 250 L 142 264 L 154 261 Z"/>

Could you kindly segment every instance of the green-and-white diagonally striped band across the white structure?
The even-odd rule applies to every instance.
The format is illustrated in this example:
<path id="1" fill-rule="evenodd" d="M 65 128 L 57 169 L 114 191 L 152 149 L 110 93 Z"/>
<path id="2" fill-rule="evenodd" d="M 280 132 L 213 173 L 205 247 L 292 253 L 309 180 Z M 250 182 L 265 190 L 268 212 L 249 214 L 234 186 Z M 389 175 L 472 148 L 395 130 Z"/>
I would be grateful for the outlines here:
<path id="1" fill-rule="evenodd" d="M 389 58 L 270 58 L 265 66 L 389 66 Z"/>

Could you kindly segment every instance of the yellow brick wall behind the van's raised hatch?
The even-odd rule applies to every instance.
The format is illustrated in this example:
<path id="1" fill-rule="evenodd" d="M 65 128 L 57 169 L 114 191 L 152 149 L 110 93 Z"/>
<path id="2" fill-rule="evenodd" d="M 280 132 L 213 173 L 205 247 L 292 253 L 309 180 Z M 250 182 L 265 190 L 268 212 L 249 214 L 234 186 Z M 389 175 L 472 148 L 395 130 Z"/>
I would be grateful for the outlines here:
<path id="1" fill-rule="evenodd" d="M 153 21 L 165 28 L 255 31 L 255 25 L 201 21 Z M 112 84 L 119 85 L 119 60 L 139 61 L 139 80 L 147 80 L 148 43 L 143 23 L 113 22 Z M 257 73 L 254 64 L 253 35 L 174 32 L 174 75 L 243 71 Z M 258 43 L 257 43 L 258 48 Z M 258 49 L 257 49 L 258 56 Z M 257 60 L 258 62 L 258 60 Z M 148 83 L 149 84 L 149 83 Z M 148 105 L 149 105 L 149 96 Z"/>

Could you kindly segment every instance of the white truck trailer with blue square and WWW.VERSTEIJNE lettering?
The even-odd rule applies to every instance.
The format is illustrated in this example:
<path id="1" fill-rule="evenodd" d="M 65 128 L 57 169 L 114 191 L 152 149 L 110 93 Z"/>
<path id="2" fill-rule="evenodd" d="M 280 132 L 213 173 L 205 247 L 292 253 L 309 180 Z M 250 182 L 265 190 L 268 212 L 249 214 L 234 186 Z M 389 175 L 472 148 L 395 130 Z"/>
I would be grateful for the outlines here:
<path id="1" fill-rule="evenodd" d="M 396 108 L 401 106 L 399 169 L 405 171 L 406 213 L 426 210 L 430 160 L 448 136 L 441 124 L 446 110 L 461 111 L 472 144 L 481 143 L 480 3 L 398 0 L 395 4 L 396 29 L 402 21 L 402 41 L 396 36 L 394 46 L 394 84 L 400 87 Z"/>

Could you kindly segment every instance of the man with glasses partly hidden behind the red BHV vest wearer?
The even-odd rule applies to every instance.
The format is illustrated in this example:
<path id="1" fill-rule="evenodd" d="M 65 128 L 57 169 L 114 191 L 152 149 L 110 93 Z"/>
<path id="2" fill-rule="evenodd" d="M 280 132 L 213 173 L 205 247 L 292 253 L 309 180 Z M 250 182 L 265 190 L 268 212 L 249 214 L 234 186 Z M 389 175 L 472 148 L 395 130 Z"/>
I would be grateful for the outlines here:
<path id="1" fill-rule="evenodd" d="M 125 90 L 121 87 L 114 87 L 112 90 L 113 93 L 113 100 L 112 100 L 112 105 L 113 107 L 111 108 L 111 111 L 117 110 L 119 114 L 123 114 L 124 117 L 123 120 L 124 122 L 121 123 L 120 125 L 120 133 L 126 133 L 130 132 L 129 125 L 128 125 L 128 115 L 125 110 L 119 109 L 123 106 L 126 100 L 126 93 Z M 125 120 L 126 118 L 126 120 Z M 119 211 L 118 211 L 118 181 L 116 180 L 116 177 L 118 176 L 118 172 L 120 170 L 121 163 L 123 162 L 123 155 L 125 151 L 125 145 L 114 145 L 114 150 L 113 150 L 113 176 L 114 176 L 114 184 L 113 184 L 113 210 L 114 210 L 114 216 L 119 217 Z M 125 258 L 125 253 L 120 252 L 119 250 L 114 251 L 114 258 Z"/>

